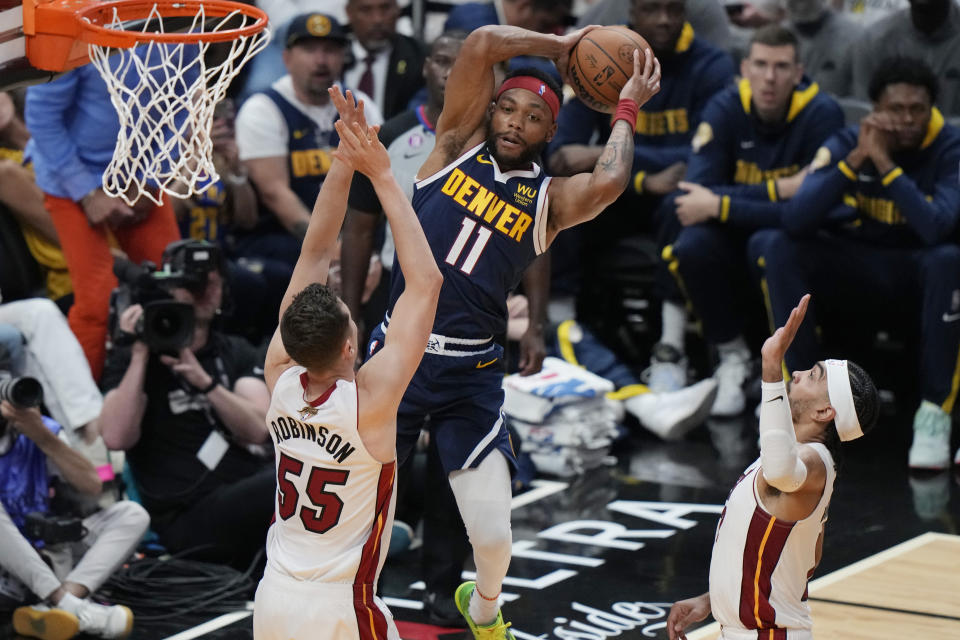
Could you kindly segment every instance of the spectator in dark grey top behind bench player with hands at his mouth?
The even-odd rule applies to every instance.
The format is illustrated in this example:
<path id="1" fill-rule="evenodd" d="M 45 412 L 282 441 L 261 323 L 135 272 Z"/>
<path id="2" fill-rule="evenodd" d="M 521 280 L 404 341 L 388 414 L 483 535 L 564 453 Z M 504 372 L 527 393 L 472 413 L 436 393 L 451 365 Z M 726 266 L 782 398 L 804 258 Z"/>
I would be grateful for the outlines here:
<path id="1" fill-rule="evenodd" d="M 853 47 L 853 95 L 869 99 L 880 62 L 889 56 L 923 60 L 941 79 L 936 105 L 960 116 L 960 6 L 956 0 L 911 0 L 877 21 Z"/>

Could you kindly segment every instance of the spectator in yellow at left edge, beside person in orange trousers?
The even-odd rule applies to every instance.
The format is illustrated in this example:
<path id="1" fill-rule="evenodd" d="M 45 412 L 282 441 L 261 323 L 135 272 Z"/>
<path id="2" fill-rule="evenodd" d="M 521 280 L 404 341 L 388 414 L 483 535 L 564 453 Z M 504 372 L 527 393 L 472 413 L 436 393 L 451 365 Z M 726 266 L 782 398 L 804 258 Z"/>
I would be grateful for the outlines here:
<path id="1" fill-rule="evenodd" d="M 56 227 L 43 205 L 43 191 L 30 163 L 24 161 L 30 132 L 23 122 L 22 98 L 22 94 L 0 92 L 0 205 L 16 219 L 29 255 L 44 272 L 45 293 L 56 300 L 73 286 Z"/>

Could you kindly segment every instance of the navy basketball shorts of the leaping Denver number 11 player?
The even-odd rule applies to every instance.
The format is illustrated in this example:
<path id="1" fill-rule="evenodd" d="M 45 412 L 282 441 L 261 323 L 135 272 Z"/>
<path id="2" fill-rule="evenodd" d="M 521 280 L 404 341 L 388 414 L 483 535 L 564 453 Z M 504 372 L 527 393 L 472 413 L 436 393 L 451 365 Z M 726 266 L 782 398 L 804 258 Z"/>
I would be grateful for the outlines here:
<path id="1" fill-rule="evenodd" d="M 475 345 L 450 340 L 431 335 L 403 395 L 397 410 L 397 463 L 403 464 L 420 431 L 428 429 L 447 474 L 476 467 L 497 449 L 512 473 L 517 459 L 501 412 L 503 347 L 492 340 Z M 368 359 L 383 348 L 383 341 L 381 324 L 370 336 Z"/>

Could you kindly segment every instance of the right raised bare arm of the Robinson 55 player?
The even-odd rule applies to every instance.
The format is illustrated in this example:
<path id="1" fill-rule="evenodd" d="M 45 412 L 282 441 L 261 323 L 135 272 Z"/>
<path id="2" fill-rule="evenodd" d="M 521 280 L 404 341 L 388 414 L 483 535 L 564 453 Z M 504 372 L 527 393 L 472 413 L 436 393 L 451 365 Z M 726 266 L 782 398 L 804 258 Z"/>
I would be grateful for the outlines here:
<path id="1" fill-rule="evenodd" d="M 357 373 L 361 433 L 377 459 L 391 460 L 397 406 L 420 366 L 437 311 L 443 276 L 423 235 L 420 221 L 390 172 L 387 150 L 372 129 L 337 123 L 341 153 L 373 183 L 393 231 L 405 288 L 390 317 L 383 348 Z"/>

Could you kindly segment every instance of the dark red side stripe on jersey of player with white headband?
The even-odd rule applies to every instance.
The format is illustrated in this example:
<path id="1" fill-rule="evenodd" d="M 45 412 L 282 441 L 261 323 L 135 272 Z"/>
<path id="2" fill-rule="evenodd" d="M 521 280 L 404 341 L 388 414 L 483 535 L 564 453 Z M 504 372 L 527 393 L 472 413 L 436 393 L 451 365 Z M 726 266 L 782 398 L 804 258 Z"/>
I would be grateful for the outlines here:
<path id="1" fill-rule="evenodd" d="M 763 630 L 764 638 L 776 637 L 767 633 L 777 630 L 770 581 L 794 524 L 777 520 L 757 506 L 747 528 L 740 576 L 740 622 L 747 629 Z"/>

